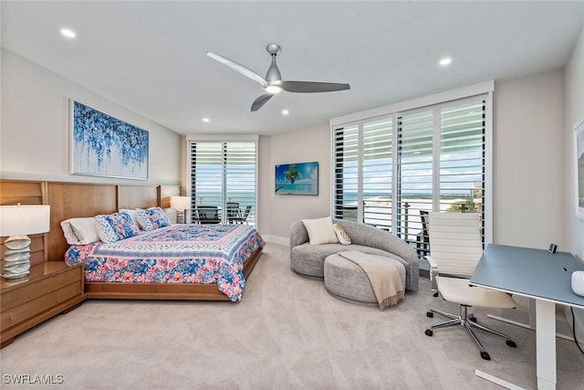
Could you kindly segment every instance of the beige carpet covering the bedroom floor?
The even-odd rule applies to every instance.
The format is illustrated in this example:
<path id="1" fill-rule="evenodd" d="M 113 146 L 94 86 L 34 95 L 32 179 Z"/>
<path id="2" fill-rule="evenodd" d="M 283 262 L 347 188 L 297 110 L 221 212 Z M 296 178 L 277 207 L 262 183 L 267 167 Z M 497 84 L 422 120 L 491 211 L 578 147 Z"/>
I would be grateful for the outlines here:
<path id="1" fill-rule="evenodd" d="M 479 369 L 536 388 L 535 332 L 485 323 L 511 334 L 509 348 L 479 333 L 491 354 L 480 358 L 461 328 L 423 331 L 439 319 L 429 307 L 456 312 L 433 298 L 422 279 L 397 306 L 346 303 L 320 280 L 297 276 L 286 247 L 268 244 L 231 302 L 88 300 L 78 309 L 17 337 L 0 354 L 3 389 L 500 389 Z M 485 311 L 476 310 L 482 320 Z M 527 314 L 494 314 L 523 321 Z M 558 329 L 568 332 L 561 322 Z M 584 356 L 558 339 L 558 389 L 582 388 Z M 6 375 L 53 375 L 60 385 L 11 385 Z M 62 375 L 62 376 L 57 376 Z"/>

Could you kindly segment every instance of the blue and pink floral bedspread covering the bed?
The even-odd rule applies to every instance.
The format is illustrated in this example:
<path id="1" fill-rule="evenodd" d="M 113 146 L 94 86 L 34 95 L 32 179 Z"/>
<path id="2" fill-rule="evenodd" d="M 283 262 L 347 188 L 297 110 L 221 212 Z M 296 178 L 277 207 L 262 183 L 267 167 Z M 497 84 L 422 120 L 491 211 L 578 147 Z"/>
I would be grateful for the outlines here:
<path id="1" fill-rule="evenodd" d="M 266 243 L 247 225 L 172 225 L 110 244 L 73 245 L 68 265 L 85 264 L 88 282 L 216 283 L 241 300 L 243 266 Z"/>

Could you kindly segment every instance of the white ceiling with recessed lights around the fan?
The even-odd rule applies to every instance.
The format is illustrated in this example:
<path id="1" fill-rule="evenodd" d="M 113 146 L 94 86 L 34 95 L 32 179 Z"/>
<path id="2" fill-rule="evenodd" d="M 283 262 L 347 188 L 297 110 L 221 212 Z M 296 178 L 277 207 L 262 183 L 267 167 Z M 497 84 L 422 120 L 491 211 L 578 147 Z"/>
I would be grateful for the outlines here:
<path id="1" fill-rule="evenodd" d="M 2 1 L 2 47 L 175 132 L 268 134 L 561 68 L 583 20 L 582 1 Z M 77 38 L 61 37 L 63 26 Z M 269 43 L 283 47 L 283 79 L 351 89 L 282 92 L 250 112 L 264 90 L 205 52 L 264 76 Z"/>

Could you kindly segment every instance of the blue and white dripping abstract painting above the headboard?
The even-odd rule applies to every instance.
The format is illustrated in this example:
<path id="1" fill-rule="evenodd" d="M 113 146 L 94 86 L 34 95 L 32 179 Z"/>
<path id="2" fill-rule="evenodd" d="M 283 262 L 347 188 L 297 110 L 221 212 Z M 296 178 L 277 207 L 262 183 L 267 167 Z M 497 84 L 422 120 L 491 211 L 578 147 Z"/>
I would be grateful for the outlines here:
<path id="1" fill-rule="evenodd" d="M 148 132 L 71 100 L 71 174 L 148 179 Z"/>

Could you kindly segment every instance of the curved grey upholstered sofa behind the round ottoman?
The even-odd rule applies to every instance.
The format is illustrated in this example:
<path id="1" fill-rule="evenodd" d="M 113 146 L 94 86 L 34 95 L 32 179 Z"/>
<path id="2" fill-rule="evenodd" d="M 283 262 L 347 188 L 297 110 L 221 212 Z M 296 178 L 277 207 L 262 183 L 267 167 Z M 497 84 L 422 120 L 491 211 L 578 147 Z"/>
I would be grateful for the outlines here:
<path id="1" fill-rule="evenodd" d="M 290 266 L 297 274 L 323 278 L 324 262 L 328 255 L 343 250 L 359 250 L 400 260 L 406 268 L 405 289 L 418 290 L 418 255 L 414 248 L 401 238 L 376 227 L 342 219 L 333 219 L 333 223 L 342 225 L 351 239 L 350 245 L 310 245 L 308 231 L 302 221 L 297 221 L 290 227 Z"/>

